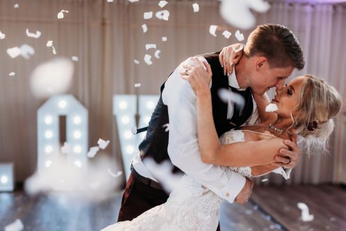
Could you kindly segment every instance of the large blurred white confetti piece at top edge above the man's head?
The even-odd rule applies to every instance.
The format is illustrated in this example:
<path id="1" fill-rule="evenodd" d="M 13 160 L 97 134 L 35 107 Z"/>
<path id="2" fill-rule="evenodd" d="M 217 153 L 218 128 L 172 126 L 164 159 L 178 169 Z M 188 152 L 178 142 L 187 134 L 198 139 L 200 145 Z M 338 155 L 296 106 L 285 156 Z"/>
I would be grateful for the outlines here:
<path id="1" fill-rule="evenodd" d="M 235 28 L 242 28 L 244 30 L 253 28 L 256 24 L 256 19 L 251 10 L 257 12 L 266 12 L 270 8 L 268 2 L 263 0 L 251 1 L 230 1 L 221 0 L 220 15 Z"/>

